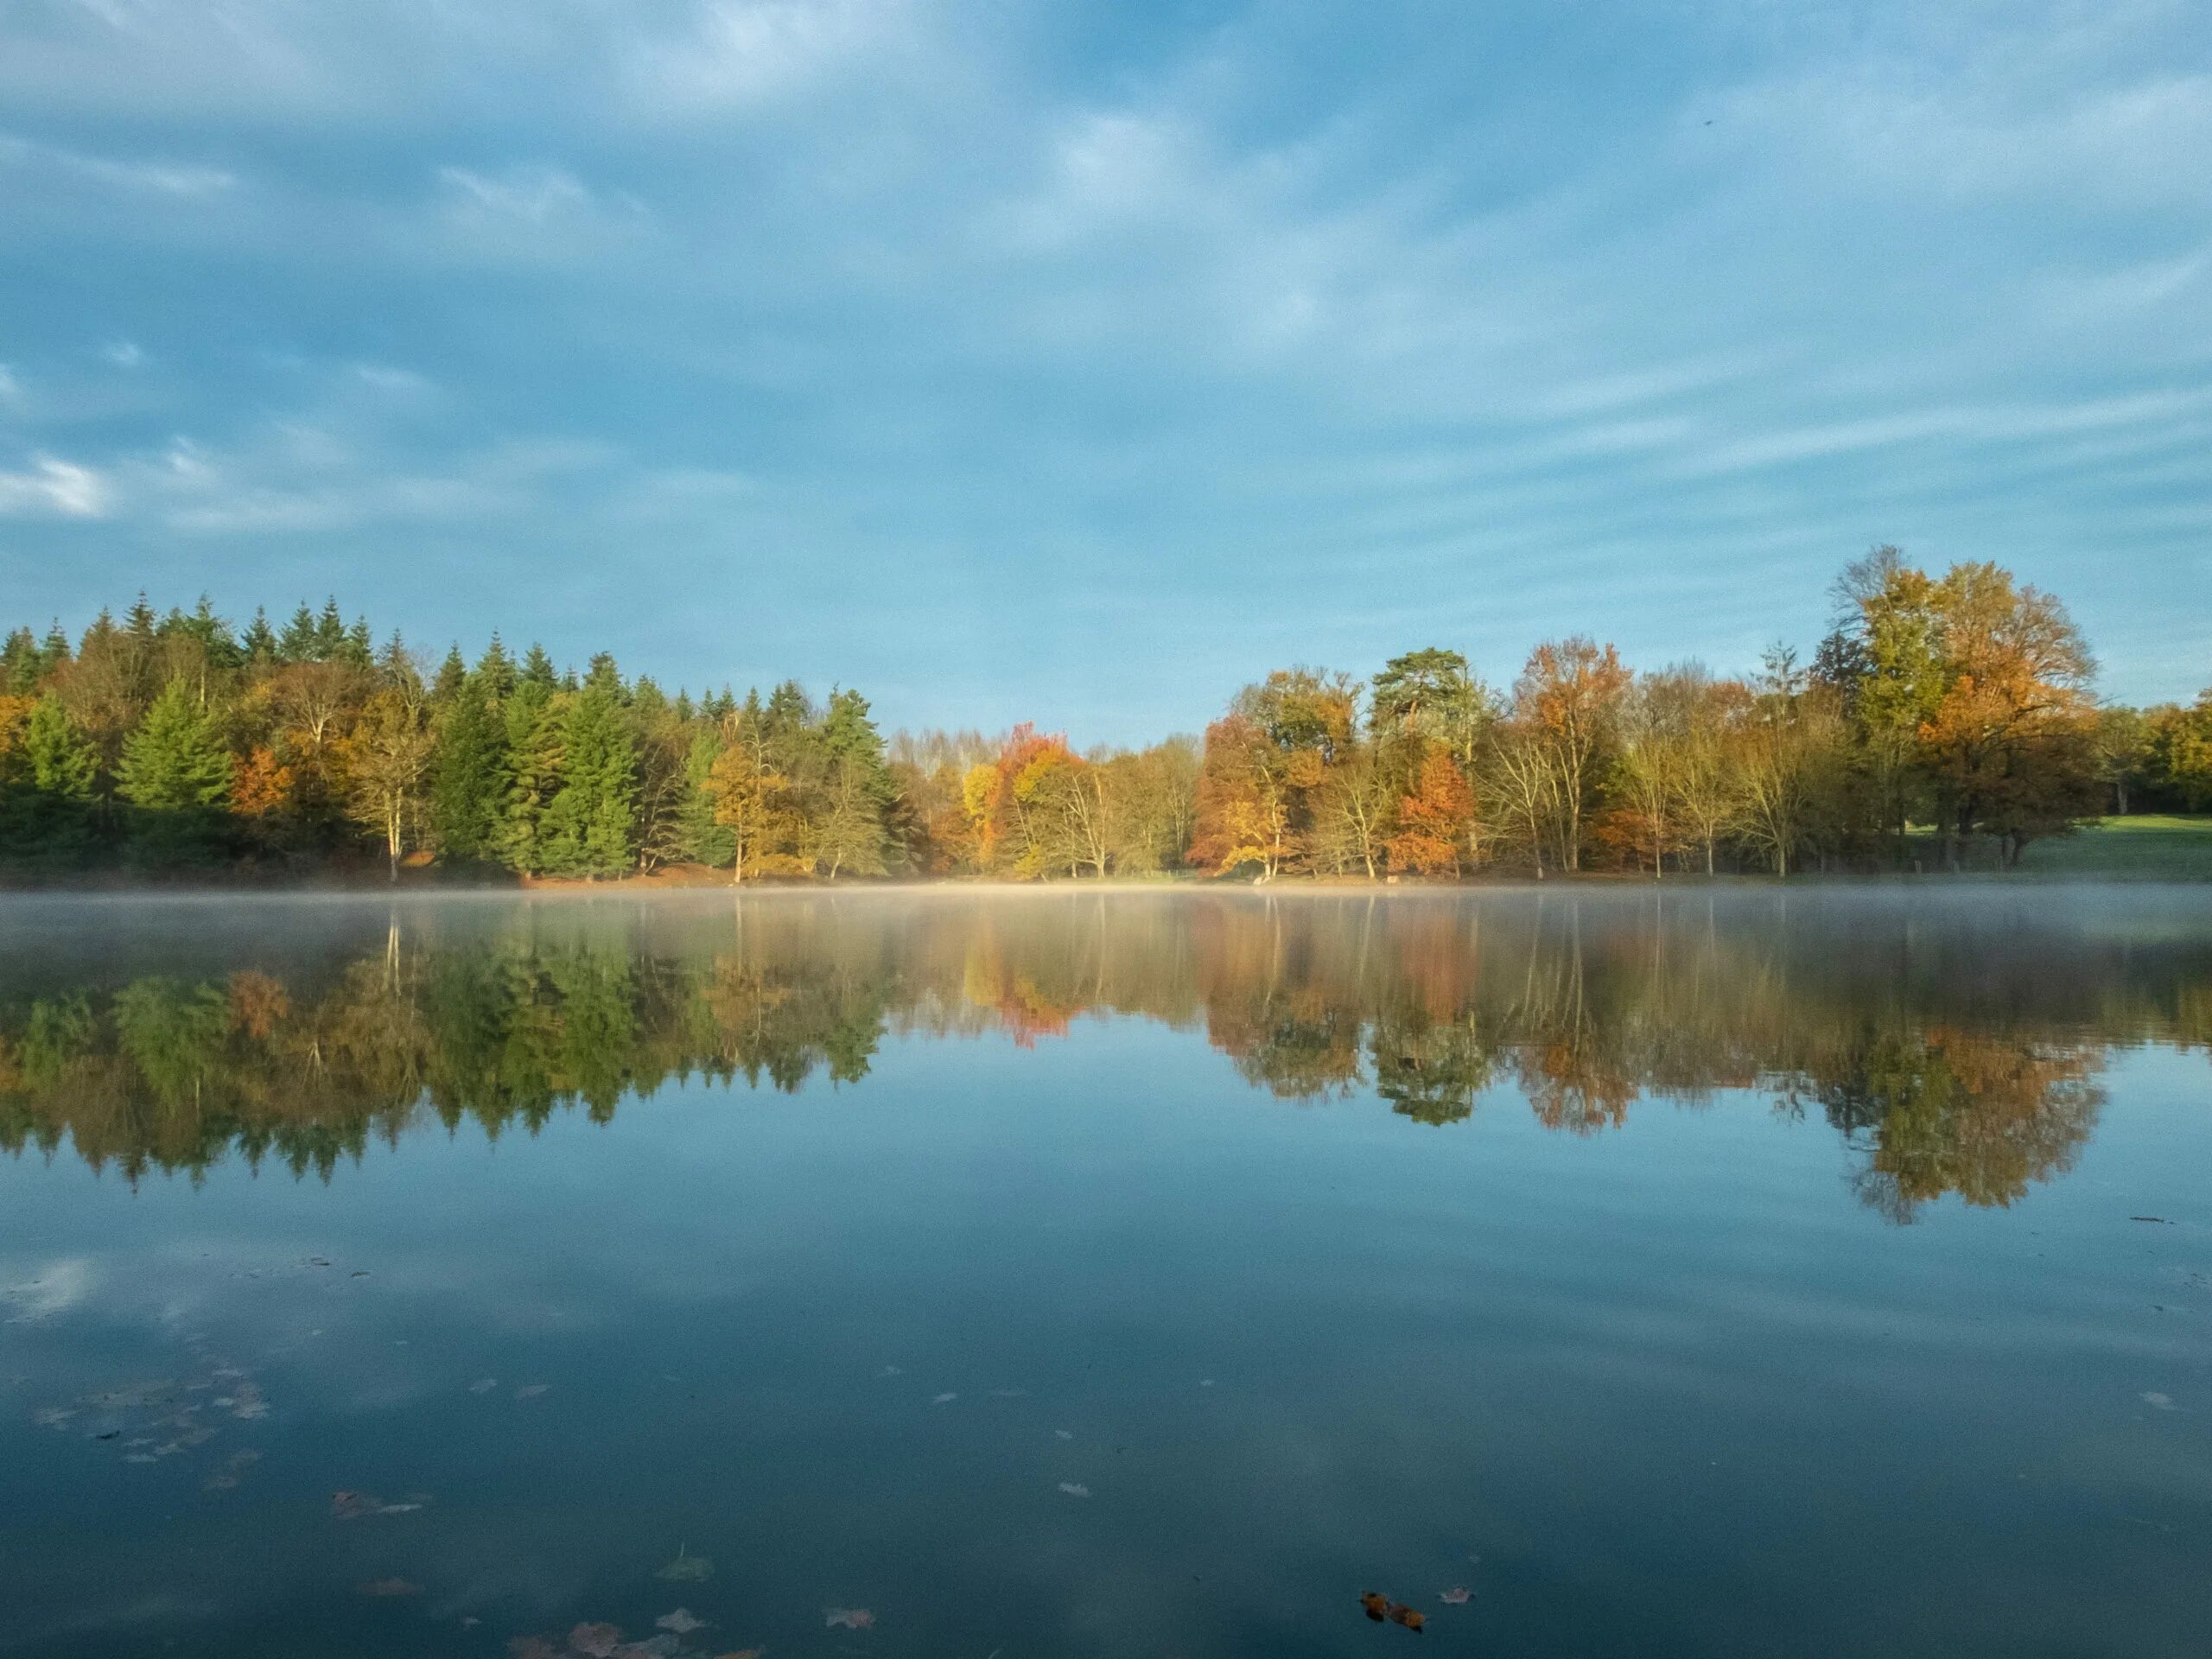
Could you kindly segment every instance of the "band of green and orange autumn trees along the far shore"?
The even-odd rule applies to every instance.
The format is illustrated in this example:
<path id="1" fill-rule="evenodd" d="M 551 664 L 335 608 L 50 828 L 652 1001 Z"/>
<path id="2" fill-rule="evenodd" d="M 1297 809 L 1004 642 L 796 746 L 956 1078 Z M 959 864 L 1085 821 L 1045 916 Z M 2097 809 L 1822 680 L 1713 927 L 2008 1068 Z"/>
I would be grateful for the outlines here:
<path id="1" fill-rule="evenodd" d="M 611 880 L 1650 878 L 2017 865 L 2212 805 L 2212 690 L 2095 695 L 2064 604 L 1995 564 L 1845 566 L 1809 657 L 1648 672 L 1584 635 L 1511 684 L 1422 648 L 1281 668 L 1203 737 L 885 737 L 858 690 L 668 692 L 498 635 L 471 664 L 336 602 L 243 628 L 144 595 L 0 648 L 0 874 Z M 712 872 L 712 876 L 708 874 Z"/>

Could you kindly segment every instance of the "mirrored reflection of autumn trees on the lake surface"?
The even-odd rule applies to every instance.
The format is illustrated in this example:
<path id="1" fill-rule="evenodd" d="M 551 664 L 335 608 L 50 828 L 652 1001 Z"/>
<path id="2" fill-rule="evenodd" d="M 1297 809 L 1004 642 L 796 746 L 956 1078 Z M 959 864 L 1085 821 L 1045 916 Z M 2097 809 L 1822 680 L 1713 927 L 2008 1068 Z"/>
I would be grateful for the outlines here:
<path id="1" fill-rule="evenodd" d="M 429 1117 L 606 1121 L 672 1082 L 858 1084 L 887 1037 L 1135 1015 L 1203 1029 L 1281 1099 L 1427 1126 L 1517 1095 L 1597 1135 L 1759 1091 L 1834 1126 L 1907 1221 L 2064 1172 L 2112 1046 L 2212 1031 L 2212 929 L 2048 894 L 759 894 L 403 905 L 376 933 L 285 971 L 221 927 L 197 971 L 18 962 L 0 1144 L 133 1181 L 230 1155 L 327 1179 Z"/>

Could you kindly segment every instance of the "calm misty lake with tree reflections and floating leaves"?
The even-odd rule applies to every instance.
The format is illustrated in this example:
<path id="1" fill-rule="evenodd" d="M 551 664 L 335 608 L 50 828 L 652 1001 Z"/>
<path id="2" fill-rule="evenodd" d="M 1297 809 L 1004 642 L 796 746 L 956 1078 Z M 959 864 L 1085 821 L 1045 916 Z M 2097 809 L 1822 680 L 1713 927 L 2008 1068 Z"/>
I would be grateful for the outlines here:
<path id="1" fill-rule="evenodd" d="M 2212 889 L 0 940 L 7 1655 L 2212 1641 Z"/>

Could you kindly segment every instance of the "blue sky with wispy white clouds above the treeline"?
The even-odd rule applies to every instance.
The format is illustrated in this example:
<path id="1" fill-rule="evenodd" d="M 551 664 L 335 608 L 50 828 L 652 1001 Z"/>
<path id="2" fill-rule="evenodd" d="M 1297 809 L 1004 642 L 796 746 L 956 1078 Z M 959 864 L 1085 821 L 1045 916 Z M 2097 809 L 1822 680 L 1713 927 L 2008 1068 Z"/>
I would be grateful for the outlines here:
<path id="1" fill-rule="evenodd" d="M 2188 699 L 2208 173 L 2205 0 L 9 0 L 0 624 L 1088 743 L 1896 542 Z"/>

